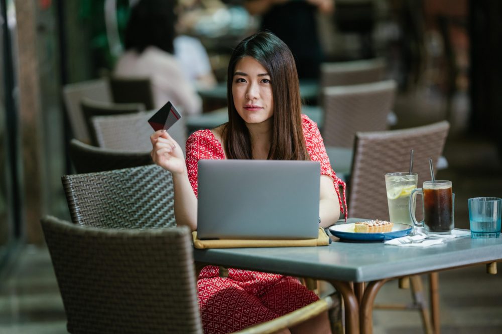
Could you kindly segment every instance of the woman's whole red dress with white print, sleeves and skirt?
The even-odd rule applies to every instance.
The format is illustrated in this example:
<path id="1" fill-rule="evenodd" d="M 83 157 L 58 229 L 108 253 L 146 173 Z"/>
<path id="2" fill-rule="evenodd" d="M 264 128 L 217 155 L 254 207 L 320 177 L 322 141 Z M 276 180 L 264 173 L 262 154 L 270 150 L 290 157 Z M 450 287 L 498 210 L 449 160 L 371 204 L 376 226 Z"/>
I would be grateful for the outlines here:
<path id="1" fill-rule="evenodd" d="M 335 190 L 343 212 L 345 183 L 336 177 L 317 128 L 302 115 L 303 135 L 313 161 L 321 163 L 321 174 L 334 180 Z M 197 196 L 197 161 L 225 159 L 221 143 L 210 130 L 194 132 L 186 144 L 188 178 Z M 342 204 L 343 198 L 343 204 Z M 347 212 L 345 210 L 345 217 Z M 247 326 L 268 321 L 289 313 L 318 299 L 317 295 L 293 277 L 241 269 L 228 269 L 228 277 L 219 277 L 219 267 L 206 266 L 197 281 L 199 309 L 205 333 L 229 333 Z"/>

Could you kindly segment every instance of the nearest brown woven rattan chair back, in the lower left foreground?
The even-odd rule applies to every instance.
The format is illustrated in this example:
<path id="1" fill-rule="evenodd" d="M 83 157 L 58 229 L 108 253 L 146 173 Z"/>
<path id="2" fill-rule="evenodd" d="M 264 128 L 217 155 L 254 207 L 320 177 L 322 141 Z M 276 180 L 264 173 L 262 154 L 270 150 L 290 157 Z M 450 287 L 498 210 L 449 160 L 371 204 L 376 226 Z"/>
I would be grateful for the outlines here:
<path id="1" fill-rule="evenodd" d="M 187 227 L 116 230 L 42 219 L 71 333 L 202 333 Z"/>

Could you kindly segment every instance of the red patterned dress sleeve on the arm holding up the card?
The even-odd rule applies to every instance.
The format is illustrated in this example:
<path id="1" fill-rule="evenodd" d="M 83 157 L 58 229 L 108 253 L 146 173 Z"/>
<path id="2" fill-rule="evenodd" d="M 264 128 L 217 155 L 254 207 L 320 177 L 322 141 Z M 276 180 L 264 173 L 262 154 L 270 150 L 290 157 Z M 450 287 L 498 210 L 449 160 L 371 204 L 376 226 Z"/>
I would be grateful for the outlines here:
<path id="1" fill-rule="evenodd" d="M 214 137 L 211 130 L 195 131 L 187 139 L 185 163 L 188 179 L 192 185 L 195 197 L 198 195 L 198 169 L 197 162 L 201 159 L 222 160 L 225 158 L 221 143 Z"/>

